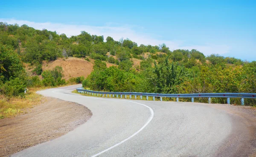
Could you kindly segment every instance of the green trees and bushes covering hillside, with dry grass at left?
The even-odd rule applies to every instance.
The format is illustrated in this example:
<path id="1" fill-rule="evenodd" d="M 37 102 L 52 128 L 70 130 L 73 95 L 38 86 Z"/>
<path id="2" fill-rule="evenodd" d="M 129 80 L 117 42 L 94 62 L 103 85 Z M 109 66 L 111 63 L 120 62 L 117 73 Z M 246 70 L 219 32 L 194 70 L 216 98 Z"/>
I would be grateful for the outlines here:
<path id="1" fill-rule="evenodd" d="M 86 79 L 81 76 L 65 80 L 62 67 L 42 69 L 43 61 L 67 57 L 94 59 L 92 73 Z M 106 62 L 115 66 L 107 67 Z M 34 68 L 32 75 L 24 69 L 23 63 Z M 39 102 L 40 98 L 33 98 L 32 91 L 45 87 L 82 83 L 91 90 L 113 92 L 256 93 L 255 78 L 255 61 L 218 54 L 205 56 L 196 49 L 170 50 L 165 44 L 137 45 L 128 38 L 115 41 L 108 36 L 104 41 L 103 36 L 85 31 L 68 38 L 46 29 L 0 22 L 1 118 L 22 112 L 25 107 L 17 105 L 17 100 L 27 106 Z M 26 88 L 29 92 L 25 94 Z M 31 103 L 26 102 L 29 99 Z M 215 103 L 225 101 L 212 100 Z M 231 103 L 240 102 L 231 99 Z M 245 99 L 245 104 L 253 106 L 256 101 Z"/>

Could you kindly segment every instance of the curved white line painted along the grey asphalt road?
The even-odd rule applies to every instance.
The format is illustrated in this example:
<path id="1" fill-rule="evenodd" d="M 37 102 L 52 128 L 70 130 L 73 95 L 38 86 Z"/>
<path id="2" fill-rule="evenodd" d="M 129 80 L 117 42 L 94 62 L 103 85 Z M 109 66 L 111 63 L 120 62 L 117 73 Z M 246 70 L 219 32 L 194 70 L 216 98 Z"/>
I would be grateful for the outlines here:
<path id="1" fill-rule="evenodd" d="M 61 89 L 58 89 L 58 90 L 61 90 Z M 57 91 L 57 90 L 52 91 L 52 93 L 55 93 L 55 91 Z M 55 94 L 63 94 L 63 93 L 55 93 Z M 79 97 L 93 98 L 93 97 L 87 97 L 87 96 L 79 96 Z M 101 98 L 93 98 L 93 99 L 101 99 Z M 111 99 L 111 100 L 114 100 L 114 99 Z M 117 99 L 116 99 L 116 100 L 117 100 Z M 119 101 L 120 101 L 120 100 L 119 100 Z M 121 100 L 121 101 L 132 102 L 132 101 L 128 101 L 128 100 Z M 105 152 L 107 152 L 107 151 L 109 151 L 109 150 L 115 148 L 116 146 L 121 145 L 123 142 L 125 142 L 125 141 L 127 141 L 127 140 L 130 140 L 132 137 L 134 137 L 135 135 L 139 134 L 139 132 L 142 131 L 142 130 L 151 122 L 151 120 L 152 120 L 153 117 L 154 117 L 154 111 L 153 111 L 153 109 L 150 108 L 150 107 L 148 107 L 147 105 L 140 104 L 140 103 L 138 103 L 138 102 L 133 102 L 133 103 L 136 103 L 136 104 L 139 104 L 139 105 L 143 105 L 143 106 L 145 106 L 146 108 L 148 108 L 148 109 L 150 110 L 151 115 L 150 115 L 150 117 L 148 118 L 148 120 L 147 120 L 147 122 L 145 123 L 145 125 L 143 125 L 143 127 L 140 128 L 140 130 L 138 130 L 136 133 L 132 134 L 130 137 L 126 138 L 125 140 L 122 140 L 121 142 L 119 142 L 119 143 L 117 143 L 117 144 L 115 144 L 115 145 L 113 145 L 113 146 L 111 146 L 111 147 L 105 149 L 104 151 L 101 151 L 101 152 L 99 152 L 99 153 L 97 153 L 97 154 L 91 156 L 91 157 L 97 157 L 97 156 L 99 156 L 100 154 L 103 154 L 103 153 L 105 153 Z"/>

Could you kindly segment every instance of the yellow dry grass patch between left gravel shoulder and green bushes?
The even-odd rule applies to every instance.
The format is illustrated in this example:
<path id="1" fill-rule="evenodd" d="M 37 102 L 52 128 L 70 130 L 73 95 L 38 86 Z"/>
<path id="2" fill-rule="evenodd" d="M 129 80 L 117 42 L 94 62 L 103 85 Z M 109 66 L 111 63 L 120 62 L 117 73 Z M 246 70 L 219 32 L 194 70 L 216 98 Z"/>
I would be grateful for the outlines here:
<path id="1" fill-rule="evenodd" d="M 33 105 L 38 105 L 42 102 L 41 95 L 35 93 L 37 90 L 41 90 L 47 87 L 30 88 L 29 92 L 24 98 L 12 97 L 0 95 L 0 119 L 5 117 L 11 118 L 16 116 L 17 113 L 23 113 L 24 109 L 32 108 Z"/>

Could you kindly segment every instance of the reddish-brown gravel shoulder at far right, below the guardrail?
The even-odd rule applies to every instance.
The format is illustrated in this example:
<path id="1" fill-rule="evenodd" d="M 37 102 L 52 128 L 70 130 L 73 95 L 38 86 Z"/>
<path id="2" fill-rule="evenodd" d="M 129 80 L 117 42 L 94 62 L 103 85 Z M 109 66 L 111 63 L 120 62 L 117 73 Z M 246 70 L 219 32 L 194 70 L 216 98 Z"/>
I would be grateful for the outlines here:
<path id="1" fill-rule="evenodd" d="M 256 108 L 216 104 L 233 118 L 233 134 L 219 148 L 215 156 L 256 157 Z"/>

